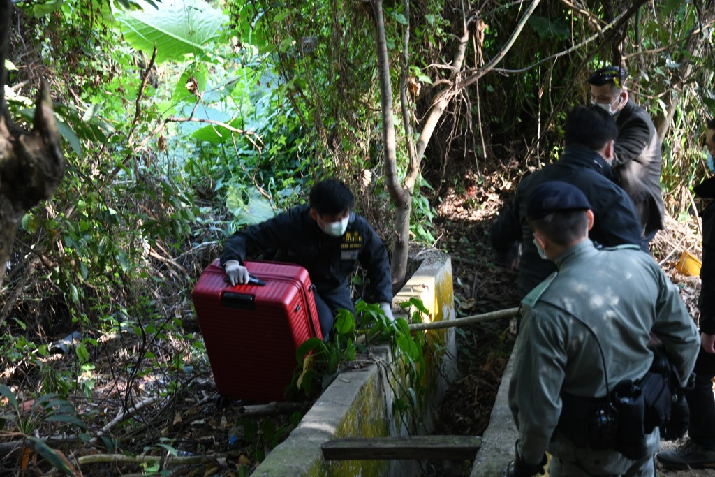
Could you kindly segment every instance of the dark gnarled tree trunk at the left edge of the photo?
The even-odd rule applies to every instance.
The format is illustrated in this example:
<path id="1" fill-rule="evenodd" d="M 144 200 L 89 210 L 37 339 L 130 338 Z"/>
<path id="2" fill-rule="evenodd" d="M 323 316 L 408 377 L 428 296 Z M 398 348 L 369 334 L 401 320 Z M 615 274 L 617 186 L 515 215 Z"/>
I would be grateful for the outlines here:
<path id="1" fill-rule="evenodd" d="M 46 82 L 40 87 L 30 132 L 9 117 L 5 59 L 10 47 L 11 9 L 10 0 L 0 0 L 0 286 L 22 216 L 54 194 L 65 165 Z"/>

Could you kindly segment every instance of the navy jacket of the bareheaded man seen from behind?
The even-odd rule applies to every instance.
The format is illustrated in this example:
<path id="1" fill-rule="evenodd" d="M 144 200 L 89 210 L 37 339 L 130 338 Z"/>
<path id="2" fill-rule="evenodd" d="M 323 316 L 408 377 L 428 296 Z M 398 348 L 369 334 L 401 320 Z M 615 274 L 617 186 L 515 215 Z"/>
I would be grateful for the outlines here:
<path id="1" fill-rule="evenodd" d="M 533 245 L 533 231 L 526 220 L 529 192 L 542 182 L 560 180 L 575 185 L 586 195 L 593 211 L 593 228 L 588 237 L 598 245 L 613 247 L 641 242 L 641 225 L 626 192 L 610 178 L 613 172 L 601 154 L 583 147 L 566 148 L 558 162 L 525 177 L 516 196 L 489 230 L 489 240 L 496 252 L 505 255 L 515 241 L 522 242 L 519 260 L 519 292 L 523 297 L 552 272 L 556 265 L 538 256 Z"/>

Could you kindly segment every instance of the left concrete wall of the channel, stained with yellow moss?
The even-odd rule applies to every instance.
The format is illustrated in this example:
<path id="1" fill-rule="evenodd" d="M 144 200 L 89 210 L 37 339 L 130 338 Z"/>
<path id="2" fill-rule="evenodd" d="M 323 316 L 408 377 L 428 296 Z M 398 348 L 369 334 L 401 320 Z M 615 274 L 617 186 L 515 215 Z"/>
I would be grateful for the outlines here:
<path id="1" fill-rule="evenodd" d="M 429 310 L 426 320 L 454 320 L 452 264 L 438 250 L 412 255 L 415 272 L 395 298 L 393 312 L 401 313 L 400 303 L 418 297 Z M 410 314 L 413 310 L 409 310 Z M 403 313 L 403 312 L 402 312 Z M 409 477 L 416 473 L 413 461 L 325 461 L 321 446 L 346 437 L 406 436 L 433 431 L 433 413 L 445 390 L 446 380 L 455 373 L 454 328 L 428 330 L 429 350 L 425 351 L 428 393 L 418 415 L 408 421 L 420 422 L 416 430 L 398 422 L 393 411 L 395 389 L 403 378 L 398 363 L 390 360 L 387 346 L 373 349 L 375 363 L 360 370 L 340 373 L 302 418 L 297 428 L 277 446 L 252 473 L 253 477 Z M 411 417 L 414 417 L 412 419 Z"/>

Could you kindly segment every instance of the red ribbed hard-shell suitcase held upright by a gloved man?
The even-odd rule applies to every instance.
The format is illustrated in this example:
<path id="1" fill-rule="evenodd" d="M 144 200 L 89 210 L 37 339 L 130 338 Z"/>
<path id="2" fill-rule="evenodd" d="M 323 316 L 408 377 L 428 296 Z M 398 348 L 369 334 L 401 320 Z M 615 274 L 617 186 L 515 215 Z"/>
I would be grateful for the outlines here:
<path id="1" fill-rule="evenodd" d="M 216 260 L 191 294 L 216 388 L 233 399 L 285 401 L 295 351 L 308 338 L 322 338 L 313 287 L 299 265 L 245 266 L 265 285 L 232 287 Z"/>

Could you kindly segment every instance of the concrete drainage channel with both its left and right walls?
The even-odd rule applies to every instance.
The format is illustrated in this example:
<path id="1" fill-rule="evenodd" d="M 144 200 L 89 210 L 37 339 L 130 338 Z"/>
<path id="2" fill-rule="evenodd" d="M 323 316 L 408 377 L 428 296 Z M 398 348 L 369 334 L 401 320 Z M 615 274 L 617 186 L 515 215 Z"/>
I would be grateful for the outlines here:
<path id="1" fill-rule="evenodd" d="M 395 296 L 393 305 L 410 297 L 418 297 L 430 310 L 432 321 L 455 320 L 452 265 L 450 258 L 438 250 L 426 250 L 410 257 L 415 272 L 408 283 Z M 471 477 L 501 476 L 505 463 L 511 459 L 516 429 L 506 405 L 506 376 L 511 373 L 511 361 L 498 392 L 490 426 L 485 431 L 484 442 L 473 437 L 442 438 L 439 442 L 428 435 L 434 429 L 433 415 L 441 403 L 448 383 L 456 374 L 455 328 L 426 330 L 427 341 L 438 345 L 444 353 L 425 354 L 427 361 L 428 396 L 420 415 L 410 416 L 409 422 L 420 422 L 420 432 L 408 430 L 393 412 L 394 390 L 399 389 L 395 376 L 400 376 L 398 366 L 390 363 L 387 346 L 373 349 L 375 363 L 359 370 L 340 373 L 320 396 L 320 399 L 302 418 L 290 436 L 267 456 L 252 473 L 254 477 L 410 477 L 420 471 L 418 460 L 445 459 L 445 449 L 450 458 L 474 458 Z M 431 347 L 431 346 L 430 346 Z M 510 428 L 511 426 L 511 428 Z M 409 437 L 410 434 L 421 434 Z M 372 442 L 375 447 L 352 449 L 360 460 L 326 459 L 328 449 L 346 438 Z M 390 439 L 393 438 L 393 439 Z M 340 440 L 340 441 L 339 441 Z M 410 458 L 395 443 L 408 443 Z M 445 447 L 440 449 L 440 446 Z M 422 446 L 422 447 L 420 447 Z M 324 453 L 325 447 L 325 453 Z M 403 446 L 404 450 L 404 446 Z M 415 454 L 416 453 L 416 454 Z M 468 456 L 468 457 L 466 457 Z M 345 458 L 342 458 L 345 459 Z"/>

